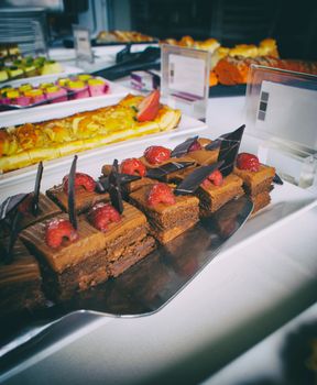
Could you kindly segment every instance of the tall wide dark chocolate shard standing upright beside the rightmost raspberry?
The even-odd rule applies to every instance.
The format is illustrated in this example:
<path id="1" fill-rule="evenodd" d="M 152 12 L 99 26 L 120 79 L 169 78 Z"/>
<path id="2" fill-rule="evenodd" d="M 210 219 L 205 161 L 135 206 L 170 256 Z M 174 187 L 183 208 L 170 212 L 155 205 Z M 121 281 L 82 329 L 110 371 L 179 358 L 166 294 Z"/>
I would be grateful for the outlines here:
<path id="1" fill-rule="evenodd" d="M 245 124 L 239 127 L 233 132 L 222 135 L 218 162 L 223 161 L 220 172 L 223 176 L 227 176 L 232 173 L 237 155 L 239 153 L 241 139 L 243 135 Z"/>

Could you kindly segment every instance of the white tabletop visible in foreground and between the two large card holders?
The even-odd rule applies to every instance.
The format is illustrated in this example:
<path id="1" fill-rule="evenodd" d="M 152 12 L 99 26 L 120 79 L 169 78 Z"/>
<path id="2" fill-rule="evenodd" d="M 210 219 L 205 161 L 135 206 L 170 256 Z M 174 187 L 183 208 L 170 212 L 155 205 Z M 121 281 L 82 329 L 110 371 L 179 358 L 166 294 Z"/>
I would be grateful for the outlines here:
<path id="1" fill-rule="evenodd" d="M 243 123 L 243 106 L 242 97 L 210 100 L 207 135 L 217 138 Z M 251 148 L 252 141 L 244 138 L 242 150 Z M 92 317 L 85 326 L 74 322 L 73 329 L 68 322 L 67 333 L 42 348 L 40 342 L 36 352 L 0 382 L 130 385 L 197 384 L 212 378 L 316 302 L 317 208 L 308 205 L 286 215 L 283 199 L 287 206 L 288 198 L 280 196 L 281 211 L 272 207 L 269 217 L 259 215 L 247 222 L 157 312 Z M 296 197 L 292 205 L 296 206 Z M 264 217 L 270 220 L 261 229 Z"/>

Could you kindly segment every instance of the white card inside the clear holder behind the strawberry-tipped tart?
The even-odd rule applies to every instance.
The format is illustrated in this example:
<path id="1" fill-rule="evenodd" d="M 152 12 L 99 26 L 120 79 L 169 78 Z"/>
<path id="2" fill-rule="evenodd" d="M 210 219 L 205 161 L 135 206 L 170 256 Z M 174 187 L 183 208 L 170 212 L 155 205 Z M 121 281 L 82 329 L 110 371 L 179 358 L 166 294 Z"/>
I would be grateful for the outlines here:
<path id="1" fill-rule="evenodd" d="M 179 96 L 203 99 L 205 95 L 206 61 L 182 55 L 170 55 L 170 89 L 181 92 Z"/>

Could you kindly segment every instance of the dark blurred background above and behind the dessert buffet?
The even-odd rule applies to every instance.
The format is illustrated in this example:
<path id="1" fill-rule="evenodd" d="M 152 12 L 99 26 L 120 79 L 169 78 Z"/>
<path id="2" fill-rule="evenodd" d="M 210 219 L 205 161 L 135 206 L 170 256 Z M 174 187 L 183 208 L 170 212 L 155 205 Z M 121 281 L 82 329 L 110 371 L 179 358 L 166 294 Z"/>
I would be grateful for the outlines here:
<path id="1" fill-rule="evenodd" d="M 302 0 L 2 0 L 1 7 L 43 7 L 50 45 L 63 46 L 72 25 L 134 30 L 157 38 L 215 37 L 223 46 L 277 41 L 282 58 L 317 59 L 317 1 Z"/>

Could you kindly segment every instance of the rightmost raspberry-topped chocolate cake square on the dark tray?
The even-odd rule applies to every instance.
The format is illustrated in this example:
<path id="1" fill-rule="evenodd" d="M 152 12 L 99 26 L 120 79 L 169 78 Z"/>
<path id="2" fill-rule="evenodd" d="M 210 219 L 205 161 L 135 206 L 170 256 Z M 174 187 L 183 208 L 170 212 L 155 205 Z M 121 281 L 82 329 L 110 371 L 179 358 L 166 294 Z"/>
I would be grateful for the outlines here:
<path id="1" fill-rule="evenodd" d="M 271 201 L 275 168 L 263 165 L 259 158 L 249 153 L 241 153 L 237 157 L 234 175 L 243 180 L 243 189 L 254 204 L 252 213 L 261 210 Z"/>

